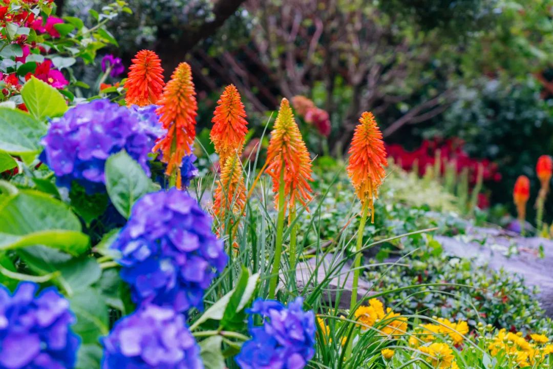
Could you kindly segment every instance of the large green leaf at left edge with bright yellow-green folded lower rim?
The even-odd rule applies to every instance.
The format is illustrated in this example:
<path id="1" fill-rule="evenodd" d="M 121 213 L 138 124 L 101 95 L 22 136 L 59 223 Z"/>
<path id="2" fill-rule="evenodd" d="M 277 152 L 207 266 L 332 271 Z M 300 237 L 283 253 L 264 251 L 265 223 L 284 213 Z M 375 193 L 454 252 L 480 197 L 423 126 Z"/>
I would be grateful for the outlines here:
<path id="1" fill-rule="evenodd" d="M 45 245 L 79 255 L 88 249 L 81 223 L 61 201 L 20 190 L 0 204 L 0 248 Z"/>

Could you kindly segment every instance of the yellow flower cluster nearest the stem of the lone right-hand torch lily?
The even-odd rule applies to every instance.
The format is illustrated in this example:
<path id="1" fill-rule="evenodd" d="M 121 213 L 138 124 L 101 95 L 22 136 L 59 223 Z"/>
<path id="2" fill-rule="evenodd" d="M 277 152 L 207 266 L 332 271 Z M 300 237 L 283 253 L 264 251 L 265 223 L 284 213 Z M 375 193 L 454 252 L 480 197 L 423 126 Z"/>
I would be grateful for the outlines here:
<path id="1" fill-rule="evenodd" d="M 378 299 L 369 300 L 368 306 L 359 306 L 354 316 L 361 330 L 374 327 L 387 336 L 404 335 L 407 331 L 407 318 L 400 317 L 399 313 L 394 313 L 390 308 L 384 311 L 384 305 Z"/>

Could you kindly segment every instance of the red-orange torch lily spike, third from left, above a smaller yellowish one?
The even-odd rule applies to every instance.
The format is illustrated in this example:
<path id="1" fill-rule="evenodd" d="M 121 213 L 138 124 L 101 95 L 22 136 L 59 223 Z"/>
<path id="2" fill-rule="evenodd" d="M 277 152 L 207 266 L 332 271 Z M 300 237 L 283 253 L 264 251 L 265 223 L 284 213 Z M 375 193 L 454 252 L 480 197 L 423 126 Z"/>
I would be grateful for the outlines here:
<path id="1" fill-rule="evenodd" d="M 248 122 L 245 119 L 246 111 L 240 93 L 234 85 L 227 86 L 217 103 L 211 119 L 213 128 L 210 137 L 215 151 L 219 154 L 221 166 L 224 166 L 228 158 L 233 157 L 235 153 L 242 153 Z"/>

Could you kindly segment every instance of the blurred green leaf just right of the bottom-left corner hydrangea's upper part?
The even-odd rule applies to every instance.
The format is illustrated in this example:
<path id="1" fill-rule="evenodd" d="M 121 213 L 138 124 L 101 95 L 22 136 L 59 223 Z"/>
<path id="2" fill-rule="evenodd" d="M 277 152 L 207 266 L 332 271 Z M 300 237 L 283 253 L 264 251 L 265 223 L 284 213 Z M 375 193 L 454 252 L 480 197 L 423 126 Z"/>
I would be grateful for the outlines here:
<path id="1" fill-rule="evenodd" d="M 108 309 L 100 292 L 84 289 L 73 295 L 69 304 L 77 318 L 73 331 L 81 336 L 83 344 L 96 344 L 101 336 L 108 334 Z"/>

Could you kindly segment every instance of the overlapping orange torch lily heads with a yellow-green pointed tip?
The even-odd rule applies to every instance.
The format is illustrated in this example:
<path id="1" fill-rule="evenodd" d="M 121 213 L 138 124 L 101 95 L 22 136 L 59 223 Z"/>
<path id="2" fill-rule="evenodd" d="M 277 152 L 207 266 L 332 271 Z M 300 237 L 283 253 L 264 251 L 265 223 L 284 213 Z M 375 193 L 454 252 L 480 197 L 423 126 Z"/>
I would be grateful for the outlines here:
<path id="1" fill-rule="evenodd" d="M 273 178 L 273 192 L 276 194 L 275 206 L 278 207 L 282 168 L 284 168 L 285 208 L 294 209 L 296 200 L 306 206 L 307 201 L 311 200 L 310 193 L 312 192 L 309 185 L 309 181 L 312 181 L 311 158 L 305 142 L 301 138 L 290 103 L 285 98 L 280 103 L 280 110 L 271 132 L 266 165 L 267 173 Z"/>

